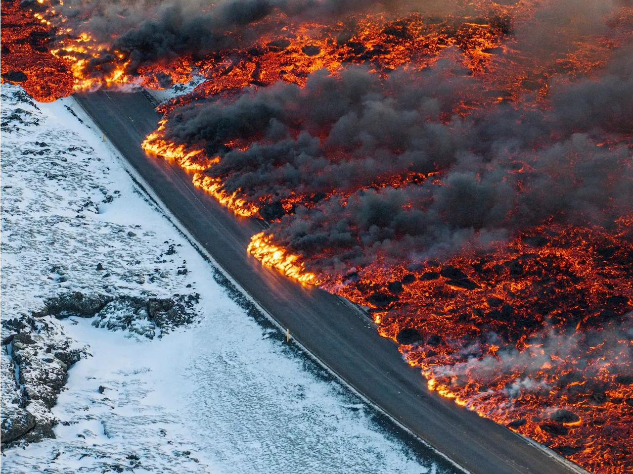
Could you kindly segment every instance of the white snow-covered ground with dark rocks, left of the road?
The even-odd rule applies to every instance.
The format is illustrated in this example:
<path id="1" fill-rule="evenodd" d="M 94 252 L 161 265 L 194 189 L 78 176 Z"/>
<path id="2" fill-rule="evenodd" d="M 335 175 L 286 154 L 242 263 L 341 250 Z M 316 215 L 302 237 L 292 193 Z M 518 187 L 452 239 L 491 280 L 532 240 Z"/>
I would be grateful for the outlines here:
<path id="1" fill-rule="evenodd" d="M 2 473 L 447 471 L 257 316 L 72 98 L 0 86 L 0 167 Z"/>

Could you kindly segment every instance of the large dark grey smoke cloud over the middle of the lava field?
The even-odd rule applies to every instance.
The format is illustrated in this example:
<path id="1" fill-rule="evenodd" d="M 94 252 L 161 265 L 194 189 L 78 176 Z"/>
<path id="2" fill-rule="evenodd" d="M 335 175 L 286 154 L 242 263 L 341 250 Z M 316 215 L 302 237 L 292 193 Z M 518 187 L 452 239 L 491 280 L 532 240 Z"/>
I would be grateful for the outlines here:
<path id="1" fill-rule="evenodd" d="M 384 80 L 349 68 L 177 108 L 166 138 L 220 153 L 207 173 L 230 193 L 301 196 L 272 233 L 315 269 L 485 245 L 551 217 L 609 226 L 633 211 L 630 152 L 595 138 L 631 129 L 629 56 L 600 80 L 553 86 L 547 112 L 501 104 L 442 120 L 465 89 L 479 93 L 453 63 Z M 253 144 L 223 149 L 234 140 Z M 407 181 L 429 172 L 441 180 Z"/>

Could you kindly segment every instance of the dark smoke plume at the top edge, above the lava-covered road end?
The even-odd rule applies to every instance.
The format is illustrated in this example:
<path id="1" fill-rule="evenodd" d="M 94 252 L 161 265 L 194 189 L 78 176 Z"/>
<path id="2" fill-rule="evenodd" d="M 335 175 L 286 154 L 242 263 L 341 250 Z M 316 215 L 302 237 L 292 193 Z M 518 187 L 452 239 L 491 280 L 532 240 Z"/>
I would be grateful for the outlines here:
<path id="1" fill-rule="evenodd" d="M 398 0 L 161 0 L 66 1 L 56 5 L 51 20 L 64 19 L 75 34 L 85 32 L 108 46 L 91 63 L 93 72 L 115 60 L 114 51 L 131 61 L 128 72 L 156 61 L 191 55 L 203 58 L 218 51 L 248 47 L 261 34 L 277 32 L 292 20 L 332 21 L 354 11 L 372 10 Z M 273 13 L 266 25 L 253 26 Z M 61 26 L 61 24 L 60 24 Z M 127 59 L 126 58 L 126 59 Z M 107 69 L 107 68 L 106 68 Z"/>

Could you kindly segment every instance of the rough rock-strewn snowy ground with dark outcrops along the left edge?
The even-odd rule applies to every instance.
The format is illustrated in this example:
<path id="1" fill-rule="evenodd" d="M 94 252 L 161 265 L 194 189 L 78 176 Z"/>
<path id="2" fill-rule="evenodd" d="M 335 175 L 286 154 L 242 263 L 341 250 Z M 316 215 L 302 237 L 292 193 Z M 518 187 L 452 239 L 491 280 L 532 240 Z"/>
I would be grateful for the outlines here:
<path id="1" fill-rule="evenodd" d="M 89 354 L 56 319 L 96 316 L 94 326 L 152 339 L 192 323 L 199 302 L 191 283 L 172 287 L 187 279 L 174 259 L 182 244 L 104 219 L 121 195 L 106 185 L 110 167 L 81 129 L 51 118 L 19 87 L 0 86 L 0 449 L 54 437 L 51 408 Z"/>

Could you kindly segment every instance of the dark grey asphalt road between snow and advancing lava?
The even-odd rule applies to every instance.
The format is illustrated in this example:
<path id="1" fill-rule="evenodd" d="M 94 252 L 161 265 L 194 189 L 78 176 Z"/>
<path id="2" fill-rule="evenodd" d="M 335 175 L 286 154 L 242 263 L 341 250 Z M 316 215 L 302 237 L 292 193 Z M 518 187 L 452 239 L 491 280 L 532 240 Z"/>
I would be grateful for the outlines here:
<path id="1" fill-rule="evenodd" d="M 473 474 L 568 474 L 572 468 L 522 437 L 429 392 L 396 345 L 334 295 L 301 286 L 248 255 L 256 219 L 235 217 L 141 141 L 160 116 L 142 93 L 75 96 L 189 233 L 306 349 L 392 418 Z"/>

